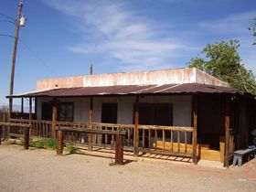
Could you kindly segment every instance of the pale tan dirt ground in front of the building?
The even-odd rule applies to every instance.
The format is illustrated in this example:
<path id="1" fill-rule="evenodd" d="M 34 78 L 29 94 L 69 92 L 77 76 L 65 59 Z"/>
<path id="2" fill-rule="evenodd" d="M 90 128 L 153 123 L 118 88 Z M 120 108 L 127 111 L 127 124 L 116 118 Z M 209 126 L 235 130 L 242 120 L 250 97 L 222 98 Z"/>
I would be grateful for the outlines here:
<path id="1" fill-rule="evenodd" d="M 93 154 L 0 145 L 0 191 L 256 191 L 255 159 L 219 169 L 133 156 L 110 165 Z"/>

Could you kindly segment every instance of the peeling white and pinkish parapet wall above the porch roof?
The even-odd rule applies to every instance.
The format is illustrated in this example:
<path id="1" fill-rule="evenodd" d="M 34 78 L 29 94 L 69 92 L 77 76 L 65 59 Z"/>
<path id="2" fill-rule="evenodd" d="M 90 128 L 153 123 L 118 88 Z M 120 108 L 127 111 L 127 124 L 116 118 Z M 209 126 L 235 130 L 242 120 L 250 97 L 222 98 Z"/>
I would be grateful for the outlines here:
<path id="1" fill-rule="evenodd" d="M 53 88 L 100 87 L 113 85 L 150 85 L 202 83 L 229 87 L 227 82 L 218 80 L 196 68 L 163 69 L 144 72 L 105 73 L 100 75 L 75 76 L 68 78 L 37 80 L 37 91 Z"/>

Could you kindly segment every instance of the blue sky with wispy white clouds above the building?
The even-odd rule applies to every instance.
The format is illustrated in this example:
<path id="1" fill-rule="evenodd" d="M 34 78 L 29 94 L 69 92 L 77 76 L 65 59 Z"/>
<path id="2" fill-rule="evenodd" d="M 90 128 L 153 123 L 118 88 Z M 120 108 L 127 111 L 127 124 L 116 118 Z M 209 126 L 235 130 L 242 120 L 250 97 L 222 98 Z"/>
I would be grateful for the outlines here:
<path id="1" fill-rule="evenodd" d="M 0 5 L 0 105 L 8 101 L 19 0 Z M 202 48 L 240 40 L 242 63 L 256 74 L 248 27 L 255 0 L 24 0 L 14 93 L 41 79 L 186 68 Z M 3 16 L 3 14 L 5 16 Z M 7 36 L 6 36 L 7 35 Z"/>

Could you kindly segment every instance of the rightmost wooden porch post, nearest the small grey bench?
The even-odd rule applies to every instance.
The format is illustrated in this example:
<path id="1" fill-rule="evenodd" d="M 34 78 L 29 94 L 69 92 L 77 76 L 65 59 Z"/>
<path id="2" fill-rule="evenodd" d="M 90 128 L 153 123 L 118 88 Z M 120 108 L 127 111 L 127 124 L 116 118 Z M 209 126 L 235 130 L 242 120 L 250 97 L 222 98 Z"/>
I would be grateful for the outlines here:
<path id="1" fill-rule="evenodd" d="M 229 167 L 229 128 L 230 128 L 230 102 L 229 97 L 225 103 L 225 157 L 224 166 Z"/>

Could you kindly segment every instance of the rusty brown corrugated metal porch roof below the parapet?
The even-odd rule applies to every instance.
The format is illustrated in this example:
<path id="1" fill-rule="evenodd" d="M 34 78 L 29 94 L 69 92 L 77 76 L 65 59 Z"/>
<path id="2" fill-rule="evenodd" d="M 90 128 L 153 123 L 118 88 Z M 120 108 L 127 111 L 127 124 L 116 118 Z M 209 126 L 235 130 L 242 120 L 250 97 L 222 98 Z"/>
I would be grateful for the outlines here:
<path id="1" fill-rule="evenodd" d="M 238 89 L 200 83 L 164 85 L 116 85 L 101 87 L 55 88 L 47 91 L 31 91 L 7 97 L 80 97 L 129 94 L 182 94 L 182 93 L 242 93 Z"/>

